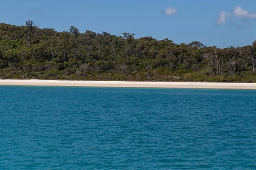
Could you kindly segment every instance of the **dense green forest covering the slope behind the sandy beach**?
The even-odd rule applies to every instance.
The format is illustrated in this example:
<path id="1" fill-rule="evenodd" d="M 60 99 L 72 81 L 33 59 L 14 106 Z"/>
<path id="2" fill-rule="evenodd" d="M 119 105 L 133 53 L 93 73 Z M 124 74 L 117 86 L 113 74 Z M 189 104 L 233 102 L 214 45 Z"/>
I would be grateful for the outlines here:
<path id="1" fill-rule="evenodd" d="M 255 67 L 256 41 L 221 49 L 0 23 L 0 79 L 256 82 Z"/>

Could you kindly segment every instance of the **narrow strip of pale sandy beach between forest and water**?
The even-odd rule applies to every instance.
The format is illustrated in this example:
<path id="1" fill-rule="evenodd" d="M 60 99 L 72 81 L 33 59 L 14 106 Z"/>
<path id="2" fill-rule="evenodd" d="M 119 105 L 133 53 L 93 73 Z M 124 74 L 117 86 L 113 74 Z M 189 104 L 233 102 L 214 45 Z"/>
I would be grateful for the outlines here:
<path id="1" fill-rule="evenodd" d="M 121 81 L 66 81 L 0 79 L 0 85 L 70 86 L 70 87 L 129 87 L 129 88 L 212 88 L 256 89 L 256 83 L 216 82 L 121 82 Z"/>

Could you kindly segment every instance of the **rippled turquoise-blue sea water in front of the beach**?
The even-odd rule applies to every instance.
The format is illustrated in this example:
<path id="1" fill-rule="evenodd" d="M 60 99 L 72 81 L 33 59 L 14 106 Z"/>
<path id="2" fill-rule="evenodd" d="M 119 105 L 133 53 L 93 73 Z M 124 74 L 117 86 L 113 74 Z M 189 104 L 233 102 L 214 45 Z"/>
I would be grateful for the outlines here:
<path id="1" fill-rule="evenodd" d="M 0 169 L 256 169 L 256 91 L 0 86 Z"/>

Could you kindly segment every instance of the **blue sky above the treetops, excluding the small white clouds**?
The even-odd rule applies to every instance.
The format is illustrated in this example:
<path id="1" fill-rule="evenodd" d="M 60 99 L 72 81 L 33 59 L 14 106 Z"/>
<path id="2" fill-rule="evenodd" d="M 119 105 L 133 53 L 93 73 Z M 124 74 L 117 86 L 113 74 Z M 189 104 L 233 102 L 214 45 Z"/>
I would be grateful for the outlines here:
<path id="1" fill-rule="evenodd" d="M 235 15 L 237 6 L 248 14 Z M 168 15 L 167 7 L 175 12 Z M 80 32 L 129 32 L 136 38 L 201 41 L 224 48 L 256 40 L 255 7 L 256 0 L 0 0 L 0 23 L 21 26 L 32 20 L 56 31 L 75 26 Z M 217 25 L 221 11 L 227 14 Z"/>

